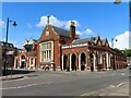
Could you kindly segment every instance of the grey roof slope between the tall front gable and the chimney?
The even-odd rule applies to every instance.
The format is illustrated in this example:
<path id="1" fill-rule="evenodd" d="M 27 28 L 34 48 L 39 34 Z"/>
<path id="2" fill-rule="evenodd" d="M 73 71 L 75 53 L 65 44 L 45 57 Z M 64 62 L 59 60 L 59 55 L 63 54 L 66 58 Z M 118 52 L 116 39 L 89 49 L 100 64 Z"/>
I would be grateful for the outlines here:
<path id="1" fill-rule="evenodd" d="M 56 27 L 56 26 L 52 26 L 52 25 L 49 25 L 52 30 L 55 30 L 58 35 L 60 36 L 64 36 L 64 37 L 70 37 L 70 32 L 69 30 L 66 30 L 66 29 L 62 29 L 62 28 L 59 28 L 59 27 Z"/>

